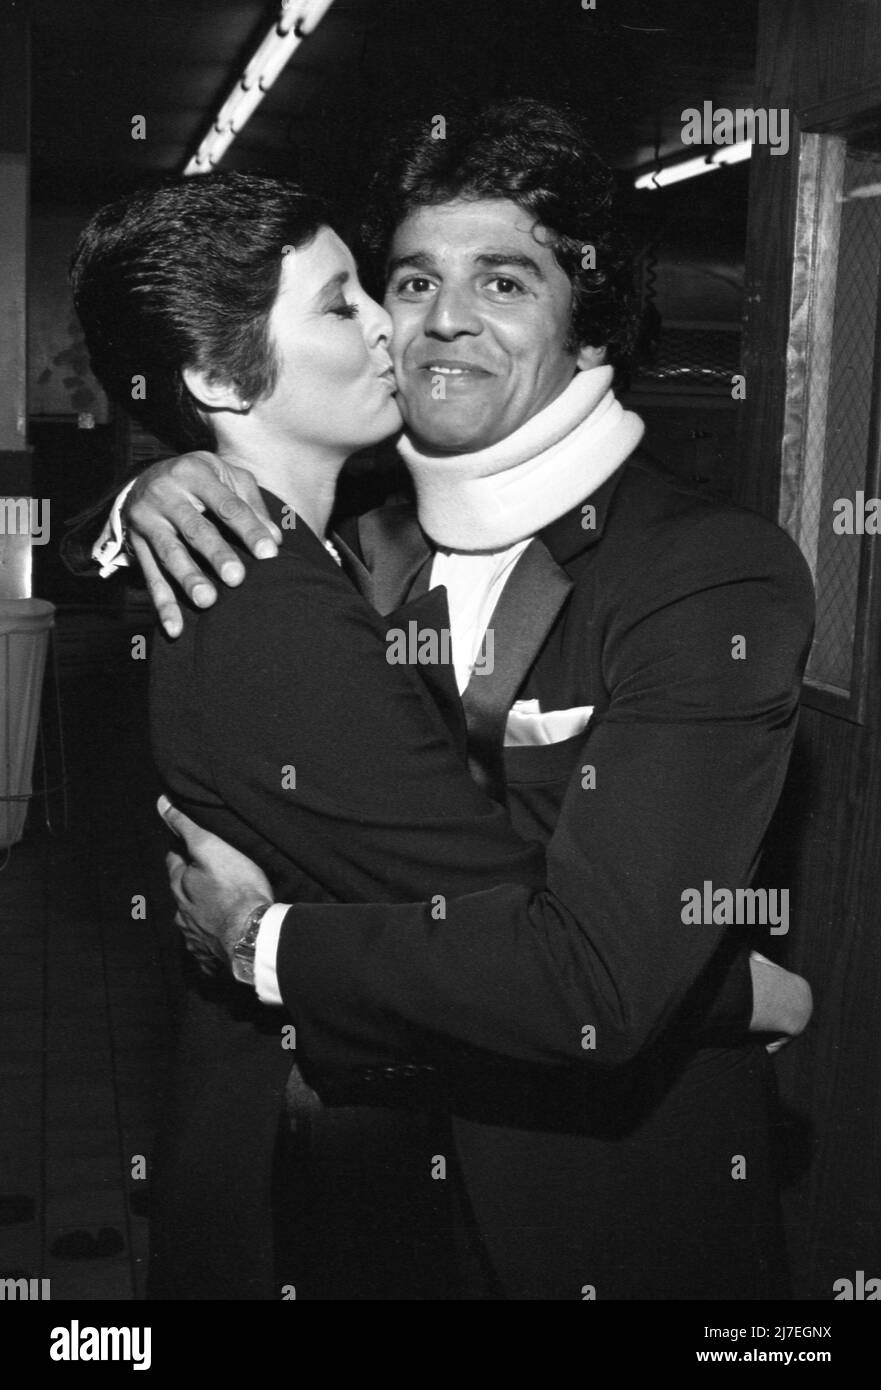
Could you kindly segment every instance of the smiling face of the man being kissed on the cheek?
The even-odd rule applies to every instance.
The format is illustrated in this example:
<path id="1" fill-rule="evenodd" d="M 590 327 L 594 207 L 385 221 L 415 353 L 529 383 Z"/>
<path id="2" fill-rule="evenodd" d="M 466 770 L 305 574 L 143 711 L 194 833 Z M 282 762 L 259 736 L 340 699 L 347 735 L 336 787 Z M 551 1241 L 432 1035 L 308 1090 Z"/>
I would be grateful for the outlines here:
<path id="1" fill-rule="evenodd" d="M 541 227 L 507 199 L 404 218 L 389 259 L 397 403 L 428 453 L 504 439 L 602 349 L 567 350 L 573 289 Z"/>

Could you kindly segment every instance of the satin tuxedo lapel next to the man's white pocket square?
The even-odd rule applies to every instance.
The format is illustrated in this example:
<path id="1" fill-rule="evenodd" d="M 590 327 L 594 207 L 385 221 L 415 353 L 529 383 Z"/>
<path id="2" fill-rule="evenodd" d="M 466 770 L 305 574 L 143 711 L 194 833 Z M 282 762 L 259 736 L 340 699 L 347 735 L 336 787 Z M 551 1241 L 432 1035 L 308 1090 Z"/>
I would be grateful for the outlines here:
<path id="1" fill-rule="evenodd" d="M 527 546 L 504 585 L 484 644 L 485 670 L 474 669 L 463 695 L 468 767 L 491 796 L 504 803 L 504 726 L 517 691 L 535 662 L 573 581 L 541 539 Z M 489 641 L 492 634 L 492 662 Z"/>

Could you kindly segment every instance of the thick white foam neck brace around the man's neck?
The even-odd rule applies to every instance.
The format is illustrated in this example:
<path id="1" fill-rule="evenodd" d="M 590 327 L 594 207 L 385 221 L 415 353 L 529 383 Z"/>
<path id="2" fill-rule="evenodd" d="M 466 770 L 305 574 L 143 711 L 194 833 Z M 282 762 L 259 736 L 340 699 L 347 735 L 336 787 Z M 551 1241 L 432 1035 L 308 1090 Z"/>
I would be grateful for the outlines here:
<path id="1" fill-rule="evenodd" d="M 420 524 L 447 550 L 499 550 L 589 498 L 634 452 L 645 425 L 611 391 L 611 367 L 575 374 L 507 439 L 475 453 L 397 443 L 415 484 Z"/>

